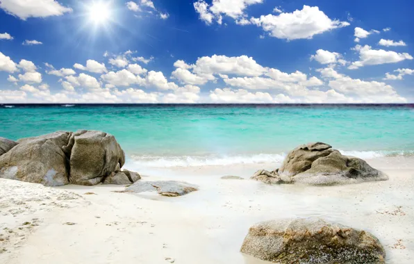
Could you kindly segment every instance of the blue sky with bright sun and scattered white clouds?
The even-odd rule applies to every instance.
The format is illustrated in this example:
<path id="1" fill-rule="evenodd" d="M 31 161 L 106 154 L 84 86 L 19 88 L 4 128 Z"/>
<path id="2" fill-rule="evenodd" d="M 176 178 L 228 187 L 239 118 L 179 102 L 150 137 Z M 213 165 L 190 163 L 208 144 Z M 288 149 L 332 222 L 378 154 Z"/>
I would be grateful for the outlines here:
<path id="1" fill-rule="evenodd" d="M 1 0 L 0 104 L 414 103 L 413 8 Z"/>

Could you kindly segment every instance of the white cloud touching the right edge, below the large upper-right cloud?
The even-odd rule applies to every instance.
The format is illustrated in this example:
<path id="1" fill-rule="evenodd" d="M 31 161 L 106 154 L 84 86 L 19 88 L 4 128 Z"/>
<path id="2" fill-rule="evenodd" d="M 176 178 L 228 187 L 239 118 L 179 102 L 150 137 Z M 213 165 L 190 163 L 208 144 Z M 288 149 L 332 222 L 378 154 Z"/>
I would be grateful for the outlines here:
<path id="1" fill-rule="evenodd" d="M 413 60 L 408 53 L 397 53 L 395 51 L 384 51 L 383 49 L 371 49 L 371 46 L 361 47 L 356 45 L 354 50 L 359 51 L 359 59 L 352 63 L 348 69 L 358 69 L 366 65 L 379 65 L 385 63 L 398 63 L 402 60 Z"/>

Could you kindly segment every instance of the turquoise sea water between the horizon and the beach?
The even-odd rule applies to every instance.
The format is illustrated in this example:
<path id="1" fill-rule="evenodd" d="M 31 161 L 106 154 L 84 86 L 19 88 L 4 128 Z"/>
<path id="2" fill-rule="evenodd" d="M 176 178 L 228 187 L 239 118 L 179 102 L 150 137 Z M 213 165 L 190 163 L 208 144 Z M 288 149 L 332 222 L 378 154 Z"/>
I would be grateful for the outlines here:
<path id="1" fill-rule="evenodd" d="M 272 161 L 312 141 L 356 156 L 414 151 L 413 106 L 0 106 L 0 124 L 13 140 L 106 131 L 129 158 L 176 165 Z"/>

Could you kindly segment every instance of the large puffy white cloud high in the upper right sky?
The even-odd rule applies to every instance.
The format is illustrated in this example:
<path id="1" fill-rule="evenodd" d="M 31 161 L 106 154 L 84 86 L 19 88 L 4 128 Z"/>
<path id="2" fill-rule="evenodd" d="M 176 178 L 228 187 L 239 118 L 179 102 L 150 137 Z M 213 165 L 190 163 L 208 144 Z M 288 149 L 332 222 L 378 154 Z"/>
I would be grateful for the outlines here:
<path id="1" fill-rule="evenodd" d="M 260 18 L 251 18 L 251 22 L 270 32 L 271 36 L 286 40 L 313 38 L 314 35 L 349 26 L 348 22 L 330 19 L 317 6 L 304 6 L 293 13 L 262 15 Z"/>

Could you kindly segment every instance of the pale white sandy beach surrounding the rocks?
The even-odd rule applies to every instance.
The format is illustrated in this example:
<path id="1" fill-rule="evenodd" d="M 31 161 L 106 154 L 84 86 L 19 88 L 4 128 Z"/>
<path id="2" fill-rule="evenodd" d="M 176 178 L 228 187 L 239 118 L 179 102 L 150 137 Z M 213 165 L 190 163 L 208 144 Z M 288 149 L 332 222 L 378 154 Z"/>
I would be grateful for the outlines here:
<path id="1" fill-rule="evenodd" d="M 389 181 L 313 187 L 248 180 L 275 164 L 140 168 L 144 180 L 199 185 L 183 197 L 113 192 L 122 186 L 0 179 L 0 263 L 265 263 L 240 254 L 249 226 L 318 216 L 378 237 L 387 263 L 413 263 L 414 158 L 367 160 Z M 127 169 L 137 170 L 133 164 Z M 223 180 L 237 175 L 245 180 Z M 87 194 L 89 193 L 89 194 Z"/>

